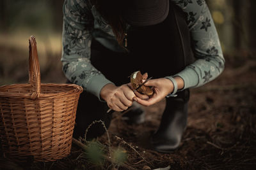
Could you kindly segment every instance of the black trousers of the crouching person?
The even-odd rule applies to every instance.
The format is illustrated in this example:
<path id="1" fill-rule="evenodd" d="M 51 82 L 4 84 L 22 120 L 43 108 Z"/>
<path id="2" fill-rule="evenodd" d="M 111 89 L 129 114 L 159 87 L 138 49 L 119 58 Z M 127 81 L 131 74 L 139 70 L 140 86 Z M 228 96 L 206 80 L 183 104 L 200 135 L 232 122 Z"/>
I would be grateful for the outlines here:
<path id="1" fill-rule="evenodd" d="M 93 39 L 92 64 L 117 86 L 129 83 L 128 76 L 134 71 L 140 70 L 142 74 L 147 72 L 148 76 L 154 78 L 179 73 L 193 62 L 186 20 L 186 15 L 170 3 L 170 12 L 164 22 L 129 29 L 127 32 L 129 52 L 113 52 Z M 177 94 L 184 101 L 188 101 L 188 90 Z M 93 120 L 102 120 L 106 127 L 109 127 L 111 113 L 106 113 L 107 110 L 106 103 L 100 102 L 88 92 L 83 92 L 77 106 L 74 138 L 83 137 L 86 128 Z M 95 138 L 104 132 L 101 124 L 95 124 L 88 131 L 87 137 Z"/>

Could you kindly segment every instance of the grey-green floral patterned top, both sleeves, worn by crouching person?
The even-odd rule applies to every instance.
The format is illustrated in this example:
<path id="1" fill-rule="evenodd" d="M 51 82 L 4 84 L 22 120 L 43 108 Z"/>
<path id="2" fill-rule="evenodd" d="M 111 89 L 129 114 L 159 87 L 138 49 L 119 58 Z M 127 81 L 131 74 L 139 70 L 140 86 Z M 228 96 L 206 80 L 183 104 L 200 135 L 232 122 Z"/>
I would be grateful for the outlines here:
<path id="1" fill-rule="evenodd" d="M 170 0 L 188 14 L 188 27 L 196 60 L 177 73 L 184 89 L 200 87 L 216 78 L 225 59 L 211 13 L 204 0 Z M 61 61 L 68 80 L 100 99 L 100 90 L 112 83 L 90 63 L 92 38 L 118 51 L 113 31 L 89 0 L 65 0 L 63 4 L 63 51 Z M 173 75 L 170 75 L 173 76 Z"/>

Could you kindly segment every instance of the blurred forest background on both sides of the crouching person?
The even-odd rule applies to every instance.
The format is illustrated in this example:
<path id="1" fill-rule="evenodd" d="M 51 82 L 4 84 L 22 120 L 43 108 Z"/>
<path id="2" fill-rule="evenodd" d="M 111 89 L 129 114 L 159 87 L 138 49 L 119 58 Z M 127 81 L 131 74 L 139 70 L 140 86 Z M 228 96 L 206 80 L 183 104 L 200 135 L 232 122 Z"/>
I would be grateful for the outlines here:
<path id="1" fill-rule="evenodd" d="M 207 0 L 225 58 L 253 58 L 255 0 Z M 63 83 L 63 0 L 0 1 L 0 85 L 28 82 L 28 38 L 36 37 L 43 83 Z"/>

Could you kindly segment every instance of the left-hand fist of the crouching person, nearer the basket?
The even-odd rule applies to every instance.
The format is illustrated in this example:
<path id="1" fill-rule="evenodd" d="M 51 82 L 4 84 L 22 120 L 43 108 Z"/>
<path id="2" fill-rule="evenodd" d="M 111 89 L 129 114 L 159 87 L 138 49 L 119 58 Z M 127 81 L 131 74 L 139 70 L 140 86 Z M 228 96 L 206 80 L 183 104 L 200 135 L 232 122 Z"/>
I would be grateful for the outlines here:
<path id="1" fill-rule="evenodd" d="M 127 84 L 116 87 L 109 83 L 100 91 L 100 97 L 108 103 L 111 110 L 124 111 L 132 106 L 133 98 L 136 96 Z"/>

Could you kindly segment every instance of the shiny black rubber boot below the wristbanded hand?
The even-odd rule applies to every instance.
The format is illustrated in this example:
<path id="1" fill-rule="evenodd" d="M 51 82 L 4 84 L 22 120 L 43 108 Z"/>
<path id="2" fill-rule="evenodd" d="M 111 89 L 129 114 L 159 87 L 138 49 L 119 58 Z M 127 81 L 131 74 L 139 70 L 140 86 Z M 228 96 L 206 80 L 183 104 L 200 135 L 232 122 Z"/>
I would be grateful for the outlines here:
<path id="1" fill-rule="evenodd" d="M 151 139 L 152 148 L 157 152 L 170 153 L 180 145 L 187 125 L 188 97 L 189 91 L 166 98 L 161 124 Z"/>

